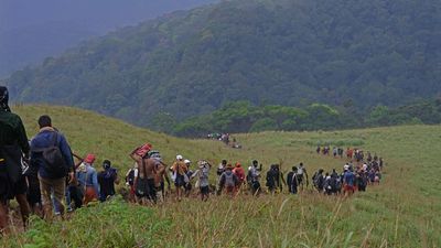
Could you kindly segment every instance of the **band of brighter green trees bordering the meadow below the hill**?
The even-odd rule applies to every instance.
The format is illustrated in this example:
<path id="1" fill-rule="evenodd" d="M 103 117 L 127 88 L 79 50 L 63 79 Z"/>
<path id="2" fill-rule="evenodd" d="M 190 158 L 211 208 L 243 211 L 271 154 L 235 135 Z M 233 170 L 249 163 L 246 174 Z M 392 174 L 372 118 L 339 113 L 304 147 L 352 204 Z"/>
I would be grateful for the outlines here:
<path id="1" fill-rule="evenodd" d="M 176 121 L 170 115 L 161 115 L 153 120 L 157 130 L 183 137 L 204 137 L 213 132 L 336 130 L 416 123 L 441 123 L 441 98 L 394 108 L 379 105 L 367 111 L 357 111 L 349 105 L 332 107 L 312 104 L 295 108 L 235 101 L 184 121 Z"/>

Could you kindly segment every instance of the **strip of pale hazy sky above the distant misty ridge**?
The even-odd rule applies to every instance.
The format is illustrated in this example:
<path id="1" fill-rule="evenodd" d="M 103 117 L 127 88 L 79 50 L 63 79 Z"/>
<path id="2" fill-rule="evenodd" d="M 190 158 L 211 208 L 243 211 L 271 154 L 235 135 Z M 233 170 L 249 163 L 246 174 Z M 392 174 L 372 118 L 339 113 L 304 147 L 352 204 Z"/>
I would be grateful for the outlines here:
<path id="1" fill-rule="evenodd" d="M 87 24 L 103 31 L 216 0 L 0 0 L 0 31 L 46 22 Z"/>

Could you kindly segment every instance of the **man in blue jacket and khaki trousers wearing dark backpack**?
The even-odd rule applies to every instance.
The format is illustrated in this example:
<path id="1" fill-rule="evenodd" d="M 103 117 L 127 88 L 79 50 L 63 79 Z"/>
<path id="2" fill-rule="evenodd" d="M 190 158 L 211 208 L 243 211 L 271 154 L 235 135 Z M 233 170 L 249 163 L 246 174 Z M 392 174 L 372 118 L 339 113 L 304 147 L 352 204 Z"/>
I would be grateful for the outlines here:
<path id="1" fill-rule="evenodd" d="M 66 176 L 74 177 L 74 160 L 66 138 L 52 127 L 49 116 L 39 118 L 40 131 L 31 141 L 31 166 L 37 168 L 43 213 L 52 218 L 53 193 L 60 214 L 64 214 L 62 200 L 65 194 Z"/>

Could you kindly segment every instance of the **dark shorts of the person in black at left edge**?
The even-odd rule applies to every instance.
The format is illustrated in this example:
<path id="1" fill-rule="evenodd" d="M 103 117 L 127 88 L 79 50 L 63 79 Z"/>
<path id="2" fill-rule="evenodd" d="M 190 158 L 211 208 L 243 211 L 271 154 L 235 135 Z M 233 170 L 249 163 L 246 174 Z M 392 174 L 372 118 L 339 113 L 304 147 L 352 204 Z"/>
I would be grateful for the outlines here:
<path id="1" fill-rule="evenodd" d="M 17 183 L 12 183 L 4 168 L 0 169 L 0 202 L 6 203 L 17 195 L 25 194 L 28 184 L 24 176 L 21 176 Z"/>

